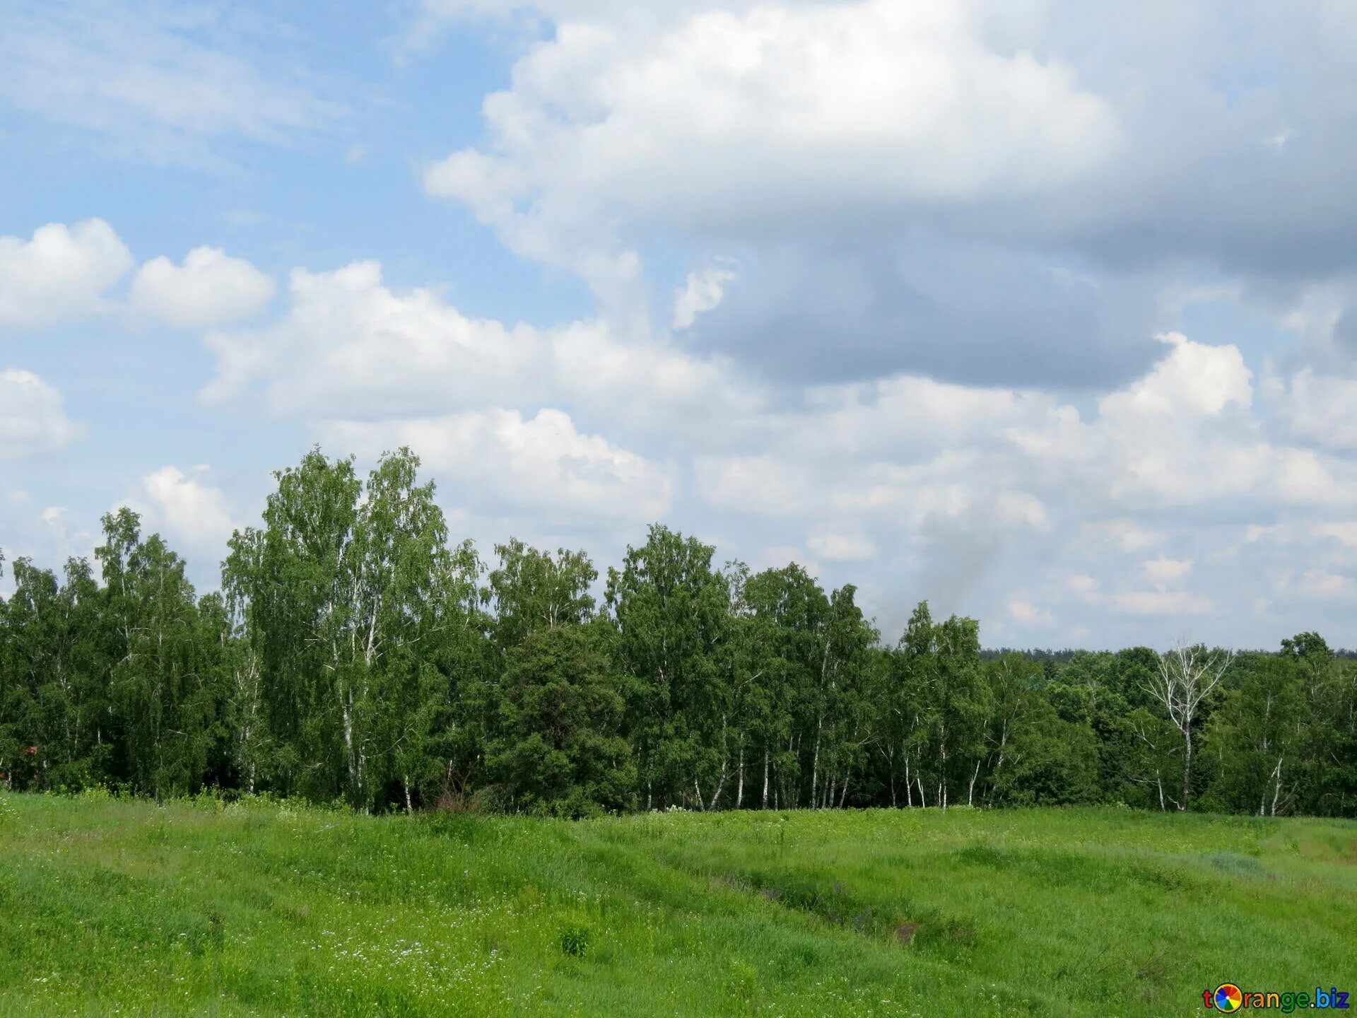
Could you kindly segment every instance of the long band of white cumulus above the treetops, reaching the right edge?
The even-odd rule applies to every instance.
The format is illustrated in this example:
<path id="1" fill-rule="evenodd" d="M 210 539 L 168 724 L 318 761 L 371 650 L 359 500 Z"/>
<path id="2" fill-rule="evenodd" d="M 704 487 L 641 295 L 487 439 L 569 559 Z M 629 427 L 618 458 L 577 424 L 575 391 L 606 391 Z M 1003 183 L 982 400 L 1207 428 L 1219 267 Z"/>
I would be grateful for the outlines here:
<path id="1" fill-rule="evenodd" d="M 540 517 L 556 533 L 683 506 L 742 535 L 737 554 L 768 544 L 769 528 L 786 535 L 778 547 L 809 535 L 835 576 L 890 561 L 940 609 L 985 604 L 1011 626 L 1049 609 L 1023 622 L 1010 601 L 1061 589 L 1082 624 L 1216 618 L 1215 597 L 1178 585 L 1273 569 L 1258 558 L 1272 552 L 1243 542 L 1147 558 L 1197 533 L 1183 508 L 1314 525 L 1357 512 L 1357 467 L 1266 437 L 1243 353 L 1181 334 L 1139 377 L 1075 403 L 909 373 L 778 388 L 605 318 L 474 319 L 437 290 L 389 286 L 375 262 L 294 270 L 286 299 L 273 324 L 209 335 L 218 372 L 205 396 L 258 394 L 335 451 L 408 444 L 445 499 L 478 513 Z M 1019 582 L 1045 577 L 1033 589 L 1046 593 L 996 601 L 992 585 L 1019 563 L 1031 577 Z M 906 614 L 881 611 L 887 628 Z"/>

